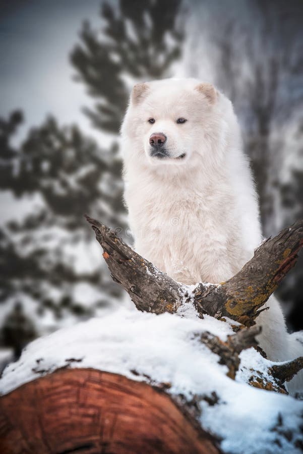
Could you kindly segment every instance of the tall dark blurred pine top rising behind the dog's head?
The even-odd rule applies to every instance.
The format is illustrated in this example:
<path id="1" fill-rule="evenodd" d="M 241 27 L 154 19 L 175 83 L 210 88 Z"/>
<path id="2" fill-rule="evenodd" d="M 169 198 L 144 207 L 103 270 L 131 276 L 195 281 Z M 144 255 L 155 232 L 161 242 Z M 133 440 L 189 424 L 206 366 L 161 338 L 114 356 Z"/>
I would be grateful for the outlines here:
<path id="1" fill-rule="evenodd" d="M 120 0 L 118 8 L 101 5 L 104 26 L 97 32 L 86 22 L 81 42 L 71 53 L 89 94 L 97 99 L 94 110 L 85 109 L 93 125 L 117 134 L 133 82 L 170 75 L 184 38 L 178 24 L 180 0 Z"/>

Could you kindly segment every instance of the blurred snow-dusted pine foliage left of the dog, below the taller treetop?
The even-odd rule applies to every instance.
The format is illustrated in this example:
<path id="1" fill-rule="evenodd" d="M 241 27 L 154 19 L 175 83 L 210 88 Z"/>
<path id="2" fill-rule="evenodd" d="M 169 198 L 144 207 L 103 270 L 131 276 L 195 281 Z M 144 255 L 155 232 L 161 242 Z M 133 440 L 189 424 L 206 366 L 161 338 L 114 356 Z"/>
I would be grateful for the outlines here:
<path id="1" fill-rule="evenodd" d="M 33 206 L 22 221 L 12 220 L 0 230 L 0 304 L 12 307 L 0 334 L 3 344 L 14 337 L 6 334 L 7 322 L 11 324 L 17 306 L 28 325 L 32 323 L 29 317 L 37 325 L 39 317 L 48 318 L 47 330 L 68 315 L 87 318 L 104 306 L 106 295 L 110 300 L 120 294 L 106 274 L 77 265 L 84 260 L 85 249 L 89 253 L 94 248 L 83 218 L 86 211 L 109 225 L 117 220 L 123 225 L 122 184 L 109 176 L 117 162 L 116 148 L 101 150 L 76 126 L 60 128 L 49 117 L 16 149 L 11 142 L 21 122 L 21 112 L 14 112 L 8 121 L 0 120 L 0 188 L 16 198 L 26 197 Z M 38 196 L 38 208 L 31 196 Z M 94 289 L 91 306 L 77 300 L 79 284 Z M 41 326 L 33 328 L 36 331 Z M 23 340 L 20 334 L 20 345 Z"/>

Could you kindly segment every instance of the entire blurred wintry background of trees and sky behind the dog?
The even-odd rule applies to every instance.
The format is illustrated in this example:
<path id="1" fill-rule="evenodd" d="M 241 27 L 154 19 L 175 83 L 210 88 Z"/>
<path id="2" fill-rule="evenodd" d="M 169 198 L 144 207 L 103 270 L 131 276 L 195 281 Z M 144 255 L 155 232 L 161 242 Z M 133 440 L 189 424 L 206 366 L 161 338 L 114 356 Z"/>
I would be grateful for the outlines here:
<path id="1" fill-rule="evenodd" d="M 264 235 L 303 217 L 302 2 L 12 0 L 0 8 L 2 348 L 18 356 L 34 337 L 127 304 L 83 214 L 125 233 L 118 131 L 134 83 L 217 84 L 243 128 Z M 302 285 L 301 256 L 277 292 L 291 330 L 303 328 Z"/>

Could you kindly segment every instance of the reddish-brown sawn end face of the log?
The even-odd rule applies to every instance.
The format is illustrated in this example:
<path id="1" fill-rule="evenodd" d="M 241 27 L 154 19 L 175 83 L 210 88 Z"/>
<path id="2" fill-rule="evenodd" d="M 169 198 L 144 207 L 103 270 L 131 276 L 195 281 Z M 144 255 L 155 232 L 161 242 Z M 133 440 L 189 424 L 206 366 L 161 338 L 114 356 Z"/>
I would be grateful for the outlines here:
<path id="1" fill-rule="evenodd" d="M 59 370 L 0 400 L 2 454 L 217 454 L 163 391 L 94 369 Z"/>

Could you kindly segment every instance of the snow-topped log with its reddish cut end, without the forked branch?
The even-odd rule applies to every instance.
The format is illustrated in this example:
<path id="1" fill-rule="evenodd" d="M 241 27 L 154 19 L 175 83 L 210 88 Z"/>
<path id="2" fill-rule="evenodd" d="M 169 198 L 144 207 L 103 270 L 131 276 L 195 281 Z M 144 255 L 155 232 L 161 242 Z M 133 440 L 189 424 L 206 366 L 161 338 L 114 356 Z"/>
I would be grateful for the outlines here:
<path id="1" fill-rule="evenodd" d="M 262 381 L 278 388 L 270 370 L 283 363 L 249 348 L 251 329 L 234 333 L 228 322 L 190 310 L 120 308 L 39 338 L 0 379 L 0 445 L 7 449 L 0 451 L 217 452 L 219 443 L 234 454 L 299 453 L 303 402 L 259 389 Z M 230 378 L 232 352 L 239 362 Z M 176 440 L 191 449 L 178 450 Z"/>

